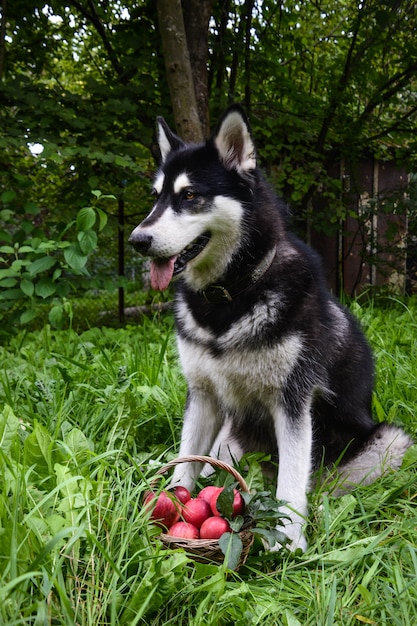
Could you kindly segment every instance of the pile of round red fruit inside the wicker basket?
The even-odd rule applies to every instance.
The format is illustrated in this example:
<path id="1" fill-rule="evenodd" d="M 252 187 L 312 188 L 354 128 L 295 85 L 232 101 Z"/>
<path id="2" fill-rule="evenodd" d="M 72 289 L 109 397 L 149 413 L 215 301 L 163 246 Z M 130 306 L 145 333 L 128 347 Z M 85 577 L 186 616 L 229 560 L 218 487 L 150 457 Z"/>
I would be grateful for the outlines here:
<path id="1" fill-rule="evenodd" d="M 152 507 L 153 522 L 166 528 L 171 537 L 219 539 L 231 530 L 217 508 L 217 498 L 222 491 L 223 487 L 208 486 L 192 498 L 185 487 L 175 487 L 172 492 L 162 491 L 159 495 L 148 493 L 144 504 Z M 232 518 L 241 515 L 244 508 L 242 494 L 235 489 Z"/>

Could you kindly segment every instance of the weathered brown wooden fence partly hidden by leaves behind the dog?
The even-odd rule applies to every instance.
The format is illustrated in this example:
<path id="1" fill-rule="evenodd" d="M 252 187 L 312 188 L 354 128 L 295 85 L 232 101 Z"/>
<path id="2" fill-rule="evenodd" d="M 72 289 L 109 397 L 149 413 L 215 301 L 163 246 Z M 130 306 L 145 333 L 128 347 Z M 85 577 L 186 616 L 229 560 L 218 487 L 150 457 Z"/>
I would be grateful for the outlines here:
<path id="1" fill-rule="evenodd" d="M 327 282 L 336 294 L 356 295 L 368 288 L 389 286 L 404 293 L 407 275 L 408 176 L 393 162 L 372 157 L 352 166 L 336 163 L 330 174 L 341 180 L 348 216 L 338 232 L 310 234 L 323 259 Z M 325 200 L 314 203 L 321 211 Z"/>

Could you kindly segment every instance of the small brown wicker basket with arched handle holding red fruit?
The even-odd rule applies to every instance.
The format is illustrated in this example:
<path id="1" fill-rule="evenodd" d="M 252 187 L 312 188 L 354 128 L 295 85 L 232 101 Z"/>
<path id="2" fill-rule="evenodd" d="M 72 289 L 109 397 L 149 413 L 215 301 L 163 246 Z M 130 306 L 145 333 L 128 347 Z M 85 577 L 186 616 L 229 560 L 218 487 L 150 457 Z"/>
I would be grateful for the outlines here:
<path id="1" fill-rule="evenodd" d="M 156 485 L 159 476 L 165 474 L 180 463 L 209 463 L 212 467 L 226 470 L 239 483 L 242 491 L 249 492 L 249 487 L 245 479 L 231 465 L 228 465 L 223 461 L 219 461 L 218 459 L 213 459 L 210 456 L 198 455 L 178 457 L 177 459 L 170 461 L 156 472 L 156 476 L 151 481 L 150 487 L 152 488 Z M 243 550 L 240 556 L 238 567 L 245 563 L 253 543 L 253 535 L 249 530 L 241 531 L 239 533 L 239 536 L 243 544 Z M 167 535 L 165 533 L 161 533 L 161 535 L 159 535 L 159 539 L 167 548 L 183 548 L 187 553 L 193 556 L 193 559 L 195 561 L 205 563 L 210 561 L 223 563 L 224 561 L 224 554 L 220 549 L 217 539 L 182 539 L 179 537 L 171 537 L 170 535 Z"/>

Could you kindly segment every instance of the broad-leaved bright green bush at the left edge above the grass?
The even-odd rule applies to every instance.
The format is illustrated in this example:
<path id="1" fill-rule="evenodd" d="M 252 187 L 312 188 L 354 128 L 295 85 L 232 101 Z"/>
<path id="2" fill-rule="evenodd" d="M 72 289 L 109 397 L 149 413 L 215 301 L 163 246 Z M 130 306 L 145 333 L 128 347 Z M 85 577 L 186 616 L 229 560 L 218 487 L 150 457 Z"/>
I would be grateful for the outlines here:
<path id="1" fill-rule="evenodd" d="M 32 322 L 45 304 L 56 327 L 71 316 L 68 295 L 88 277 L 86 263 L 97 248 L 97 232 L 107 223 L 93 202 L 68 224 L 56 224 L 32 202 L 19 203 L 15 191 L 4 191 L 0 210 L 0 322 L 2 332 Z"/>

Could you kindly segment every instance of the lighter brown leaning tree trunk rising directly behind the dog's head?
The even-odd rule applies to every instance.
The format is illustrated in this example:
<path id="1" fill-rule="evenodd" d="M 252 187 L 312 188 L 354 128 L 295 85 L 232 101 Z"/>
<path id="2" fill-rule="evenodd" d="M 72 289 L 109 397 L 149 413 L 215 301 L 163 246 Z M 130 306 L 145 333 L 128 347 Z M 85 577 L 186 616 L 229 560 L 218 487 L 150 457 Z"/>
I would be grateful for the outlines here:
<path id="1" fill-rule="evenodd" d="M 157 0 L 159 31 L 178 134 L 185 141 L 202 141 L 181 0 Z"/>

